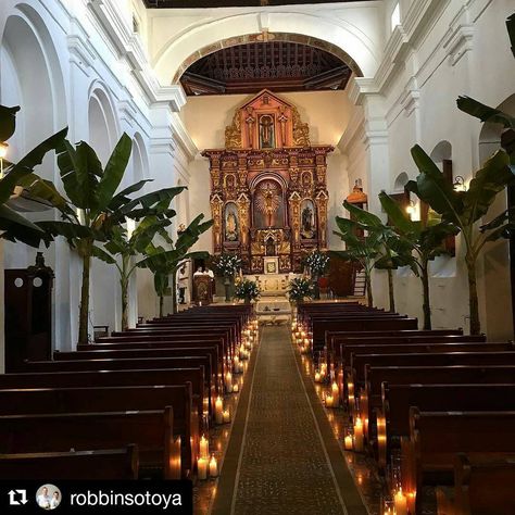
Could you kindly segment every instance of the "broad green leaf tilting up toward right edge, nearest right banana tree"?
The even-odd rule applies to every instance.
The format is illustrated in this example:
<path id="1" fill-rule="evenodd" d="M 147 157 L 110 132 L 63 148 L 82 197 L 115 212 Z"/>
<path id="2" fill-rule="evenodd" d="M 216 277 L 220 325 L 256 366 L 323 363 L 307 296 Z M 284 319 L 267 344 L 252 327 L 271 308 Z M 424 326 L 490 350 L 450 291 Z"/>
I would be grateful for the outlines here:
<path id="1" fill-rule="evenodd" d="M 499 150 L 479 169 L 462 196 L 462 219 L 472 225 L 485 216 L 495 196 L 515 179 L 510 167 L 510 156 Z"/>

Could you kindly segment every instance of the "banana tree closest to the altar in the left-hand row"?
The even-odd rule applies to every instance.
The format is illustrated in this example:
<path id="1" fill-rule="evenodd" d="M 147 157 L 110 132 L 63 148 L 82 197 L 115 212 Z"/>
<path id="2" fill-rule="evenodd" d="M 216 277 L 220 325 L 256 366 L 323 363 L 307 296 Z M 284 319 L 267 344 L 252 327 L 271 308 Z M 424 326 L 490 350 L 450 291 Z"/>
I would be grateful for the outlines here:
<path id="1" fill-rule="evenodd" d="M 188 252 L 189 249 L 199 240 L 200 235 L 205 233 L 212 225 L 213 221 L 203 222 L 204 215 L 199 214 L 177 237 L 177 241 L 174 241 L 167 235 L 160 234 L 168 250 L 163 246 L 156 246 L 151 242 L 145 253 L 147 258 L 139 261 L 136 266 L 139 268 L 148 268 L 154 276 L 154 289 L 155 293 L 160 299 L 159 304 L 159 316 L 163 316 L 163 303 L 164 296 L 166 294 L 168 287 L 172 289 L 172 312 L 176 312 L 176 274 L 183 264 L 191 259 L 205 260 L 209 258 L 209 252 Z M 172 285 L 169 285 L 169 276 L 172 276 Z"/>

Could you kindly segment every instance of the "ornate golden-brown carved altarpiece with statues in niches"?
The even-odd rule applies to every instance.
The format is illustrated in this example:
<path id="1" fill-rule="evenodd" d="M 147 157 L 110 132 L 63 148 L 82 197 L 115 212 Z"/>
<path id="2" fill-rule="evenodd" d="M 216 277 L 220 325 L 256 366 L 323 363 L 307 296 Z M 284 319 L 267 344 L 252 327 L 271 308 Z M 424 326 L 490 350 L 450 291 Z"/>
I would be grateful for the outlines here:
<path id="1" fill-rule="evenodd" d="M 238 108 L 225 149 L 210 159 L 213 250 L 241 255 L 246 274 L 301 272 L 327 248 L 330 146 L 312 146 L 297 108 L 268 90 Z M 265 269 L 277 256 L 278 269 Z"/>

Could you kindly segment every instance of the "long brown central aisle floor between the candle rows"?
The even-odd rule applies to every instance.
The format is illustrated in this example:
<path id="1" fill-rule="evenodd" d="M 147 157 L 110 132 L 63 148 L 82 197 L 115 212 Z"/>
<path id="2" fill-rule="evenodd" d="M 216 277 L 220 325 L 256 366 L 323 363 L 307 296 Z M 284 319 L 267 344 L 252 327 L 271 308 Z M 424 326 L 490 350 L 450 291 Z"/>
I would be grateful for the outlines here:
<path id="1" fill-rule="evenodd" d="M 212 513 L 366 514 L 286 327 L 264 327 L 246 389 Z"/>

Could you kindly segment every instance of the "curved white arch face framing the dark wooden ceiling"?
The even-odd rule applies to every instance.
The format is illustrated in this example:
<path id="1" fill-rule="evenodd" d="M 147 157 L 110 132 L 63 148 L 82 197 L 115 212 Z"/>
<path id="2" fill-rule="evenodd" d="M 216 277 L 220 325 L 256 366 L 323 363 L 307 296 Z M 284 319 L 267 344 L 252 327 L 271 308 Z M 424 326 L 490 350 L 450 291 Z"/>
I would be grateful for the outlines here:
<path id="1" fill-rule="evenodd" d="M 360 66 L 364 76 L 374 76 L 379 56 L 365 30 L 350 22 L 329 18 L 328 14 L 274 11 L 267 13 L 272 34 L 300 34 L 322 39 L 344 50 Z M 209 18 L 193 24 L 171 38 L 155 54 L 154 70 L 163 85 L 168 85 L 181 64 L 199 50 L 228 38 L 262 32 L 261 13 L 251 12 Z"/>

